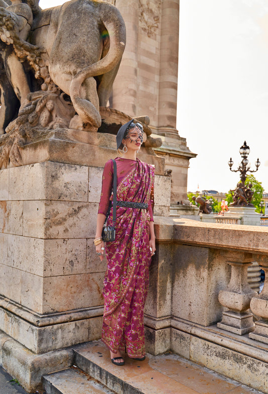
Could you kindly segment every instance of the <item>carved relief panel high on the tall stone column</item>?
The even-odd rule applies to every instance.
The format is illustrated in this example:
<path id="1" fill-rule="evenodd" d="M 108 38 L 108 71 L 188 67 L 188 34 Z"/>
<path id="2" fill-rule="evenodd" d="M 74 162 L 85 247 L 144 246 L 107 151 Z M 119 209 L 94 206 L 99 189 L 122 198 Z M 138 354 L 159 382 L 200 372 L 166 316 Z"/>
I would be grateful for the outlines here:
<path id="1" fill-rule="evenodd" d="M 152 37 L 159 28 L 161 0 L 139 0 L 140 25 L 148 37 Z"/>

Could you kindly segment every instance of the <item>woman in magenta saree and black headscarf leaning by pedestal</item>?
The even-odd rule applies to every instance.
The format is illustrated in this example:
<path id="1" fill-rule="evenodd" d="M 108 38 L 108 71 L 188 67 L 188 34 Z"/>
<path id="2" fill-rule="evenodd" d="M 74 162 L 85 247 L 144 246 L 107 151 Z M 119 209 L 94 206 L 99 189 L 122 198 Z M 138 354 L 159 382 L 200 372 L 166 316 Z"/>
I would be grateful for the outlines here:
<path id="1" fill-rule="evenodd" d="M 137 159 L 143 142 L 143 128 L 139 123 L 134 124 L 132 120 L 123 125 L 116 139 L 117 148 L 123 148 L 123 155 L 115 159 L 118 201 L 116 239 L 106 242 L 104 248 L 102 228 L 109 202 L 113 200 L 113 161 L 109 160 L 104 167 L 94 243 L 101 260 L 104 249 L 107 257 L 102 340 L 110 349 L 112 362 L 124 365 L 122 350 L 126 350 L 131 358 L 145 359 L 143 309 L 150 260 L 155 252 L 152 216 L 154 167 Z M 122 201 L 127 203 L 120 204 Z M 112 211 L 108 225 L 113 224 Z"/>

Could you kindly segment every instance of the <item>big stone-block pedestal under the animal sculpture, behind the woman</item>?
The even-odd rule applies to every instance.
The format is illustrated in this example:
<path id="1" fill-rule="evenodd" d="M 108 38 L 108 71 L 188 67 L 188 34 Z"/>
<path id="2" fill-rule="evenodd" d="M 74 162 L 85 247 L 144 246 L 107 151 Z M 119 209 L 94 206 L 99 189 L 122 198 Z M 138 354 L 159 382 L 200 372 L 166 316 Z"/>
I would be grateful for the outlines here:
<path id="1" fill-rule="evenodd" d="M 35 357 L 50 372 L 53 351 L 101 336 L 106 261 L 93 240 L 102 167 L 116 156 L 113 135 L 57 130 L 22 150 L 24 165 L 0 170 L 0 330 L 24 349 L 22 376 Z M 155 165 L 155 212 L 165 216 L 163 159 L 145 148 L 139 158 Z M 1 361 L 13 376 L 18 362 L 17 350 Z"/>

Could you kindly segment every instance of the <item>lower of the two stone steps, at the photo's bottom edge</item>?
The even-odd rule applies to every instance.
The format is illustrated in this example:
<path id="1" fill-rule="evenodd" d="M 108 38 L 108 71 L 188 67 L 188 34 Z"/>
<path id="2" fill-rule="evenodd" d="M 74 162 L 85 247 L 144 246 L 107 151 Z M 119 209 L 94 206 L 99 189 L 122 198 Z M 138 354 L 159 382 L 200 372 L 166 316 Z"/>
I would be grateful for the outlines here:
<path id="1" fill-rule="evenodd" d="M 79 368 L 67 368 L 43 376 L 46 394 L 115 394 Z"/>

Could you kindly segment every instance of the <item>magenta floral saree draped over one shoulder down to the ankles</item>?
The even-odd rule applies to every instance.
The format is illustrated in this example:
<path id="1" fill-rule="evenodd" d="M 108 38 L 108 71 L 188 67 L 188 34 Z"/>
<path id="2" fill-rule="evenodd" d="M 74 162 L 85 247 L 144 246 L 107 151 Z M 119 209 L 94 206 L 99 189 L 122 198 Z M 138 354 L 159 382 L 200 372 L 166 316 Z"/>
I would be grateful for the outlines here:
<path id="1" fill-rule="evenodd" d="M 117 200 L 148 204 L 154 167 L 137 160 L 117 186 Z M 143 310 L 149 282 L 149 214 L 117 207 L 116 239 L 106 243 L 102 340 L 112 352 L 145 355 Z M 112 224 L 112 210 L 108 225 Z"/>

